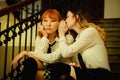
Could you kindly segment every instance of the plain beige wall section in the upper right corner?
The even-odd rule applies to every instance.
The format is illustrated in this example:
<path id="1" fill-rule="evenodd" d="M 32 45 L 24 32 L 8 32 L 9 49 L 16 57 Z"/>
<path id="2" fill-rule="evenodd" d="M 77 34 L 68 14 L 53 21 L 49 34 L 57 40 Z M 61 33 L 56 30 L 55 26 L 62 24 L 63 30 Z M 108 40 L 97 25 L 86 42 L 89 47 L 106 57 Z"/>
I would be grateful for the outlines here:
<path id="1" fill-rule="evenodd" d="M 105 0 L 104 18 L 120 18 L 120 0 Z"/>

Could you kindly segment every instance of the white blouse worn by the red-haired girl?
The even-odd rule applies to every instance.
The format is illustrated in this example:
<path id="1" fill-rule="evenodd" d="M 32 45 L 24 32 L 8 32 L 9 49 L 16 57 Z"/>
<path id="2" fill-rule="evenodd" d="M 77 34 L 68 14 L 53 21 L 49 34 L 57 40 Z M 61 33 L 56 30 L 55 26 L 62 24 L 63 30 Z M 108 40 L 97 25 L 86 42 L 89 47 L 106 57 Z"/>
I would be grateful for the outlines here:
<path id="1" fill-rule="evenodd" d="M 73 42 L 73 37 L 71 35 L 66 35 L 66 40 L 67 44 L 71 44 Z M 70 62 L 76 62 L 76 57 L 63 58 L 61 56 L 61 51 L 59 48 L 59 38 L 57 37 L 55 41 L 56 43 L 51 47 L 52 53 L 47 54 L 49 40 L 46 37 L 40 38 L 37 36 L 35 42 L 35 51 L 31 51 L 31 53 L 46 63 L 54 63 L 60 61 L 69 64 Z"/>

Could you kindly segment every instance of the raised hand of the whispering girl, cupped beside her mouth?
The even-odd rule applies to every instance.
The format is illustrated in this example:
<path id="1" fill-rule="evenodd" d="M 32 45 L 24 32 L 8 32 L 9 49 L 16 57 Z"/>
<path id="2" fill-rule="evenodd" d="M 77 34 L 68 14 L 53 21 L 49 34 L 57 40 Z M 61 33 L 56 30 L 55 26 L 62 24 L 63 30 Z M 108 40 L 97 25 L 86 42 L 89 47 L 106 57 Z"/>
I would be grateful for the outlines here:
<path id="1" fill-rule="evenodd" d="M 65 33 L 68 31 L 68 27 L 64 20 L 61 20 L 58 26 L 59 36 L 64 36 Z"/>

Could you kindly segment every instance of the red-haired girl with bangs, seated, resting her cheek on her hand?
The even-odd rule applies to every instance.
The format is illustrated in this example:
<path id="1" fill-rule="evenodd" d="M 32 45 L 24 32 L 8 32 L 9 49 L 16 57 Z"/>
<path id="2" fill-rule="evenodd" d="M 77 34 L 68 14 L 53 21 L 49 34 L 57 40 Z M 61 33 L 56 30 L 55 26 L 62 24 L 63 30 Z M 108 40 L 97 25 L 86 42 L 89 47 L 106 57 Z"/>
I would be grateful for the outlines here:
<path id="1" fill-rule="evenodd" d="M 61 20 L 60 13 L 55 9 L 46 10 L 41 16 L 38 35 L 35 41 L 35 51 L 22 51 L 12 61 L 13 66 L 18 60 L 26 56 L 24 68 L 22 70 L 21 80 L 48 80 L 50 79 L 51 63 L 63 62 L 69 64 L 75 61 L 74 57 L 63 58 L 59 50 L 58 25 Z M 67 44 L 73 42 L 71 35 Z M 49 54 L 51 53 L 51 54 Z M 67 69 L 69 71 L 69 68 Z"/>

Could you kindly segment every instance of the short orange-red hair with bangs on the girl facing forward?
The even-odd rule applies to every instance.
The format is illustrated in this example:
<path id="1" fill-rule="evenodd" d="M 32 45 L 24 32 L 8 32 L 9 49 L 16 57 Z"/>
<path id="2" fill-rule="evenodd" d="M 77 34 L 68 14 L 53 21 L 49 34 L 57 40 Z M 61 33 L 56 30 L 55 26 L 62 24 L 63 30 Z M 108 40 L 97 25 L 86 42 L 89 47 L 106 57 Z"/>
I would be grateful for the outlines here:
<path id="1" fill-rule="evenodd" d="M 49 17 L 51 19 L 56 19 L 58 21 L 61 20 L 61 15 L 60 15 L 60 13 L 56 9 L 48 9 L 48 10 L 46 10 L 42 14 L 41 20 L 43 20 L 46 17 Z"/>

